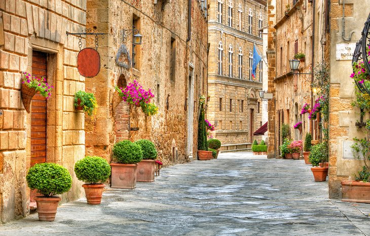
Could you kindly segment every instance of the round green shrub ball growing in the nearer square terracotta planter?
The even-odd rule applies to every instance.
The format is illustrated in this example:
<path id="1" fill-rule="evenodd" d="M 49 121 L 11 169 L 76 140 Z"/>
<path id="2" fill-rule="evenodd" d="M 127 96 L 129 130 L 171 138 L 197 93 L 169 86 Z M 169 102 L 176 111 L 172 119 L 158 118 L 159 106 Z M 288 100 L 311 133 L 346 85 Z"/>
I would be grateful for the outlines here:
<path id="1" fill-rule="evenodd" d="M 135 164 L 142 160 L 142 150 L 139 144 L 123 140 L 113 146 L 113 158 L 122 164 Z"/>

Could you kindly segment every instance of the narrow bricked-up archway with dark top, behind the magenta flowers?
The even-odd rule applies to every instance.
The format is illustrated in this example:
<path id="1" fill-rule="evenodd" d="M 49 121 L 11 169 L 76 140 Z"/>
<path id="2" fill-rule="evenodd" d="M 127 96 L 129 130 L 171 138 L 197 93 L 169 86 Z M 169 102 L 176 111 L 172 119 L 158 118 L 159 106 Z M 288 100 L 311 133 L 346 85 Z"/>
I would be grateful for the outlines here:
<path id="1" fill-rule="evenodd" d="M 127 85 L 126 77 L 121 74 L 118 78 L 118 88 L 125 88 Z M 127 102 L 121 101 L 116 107 L 115 112 L 115 133 L 116 142 L 130 139 L 130 106 Z"/>

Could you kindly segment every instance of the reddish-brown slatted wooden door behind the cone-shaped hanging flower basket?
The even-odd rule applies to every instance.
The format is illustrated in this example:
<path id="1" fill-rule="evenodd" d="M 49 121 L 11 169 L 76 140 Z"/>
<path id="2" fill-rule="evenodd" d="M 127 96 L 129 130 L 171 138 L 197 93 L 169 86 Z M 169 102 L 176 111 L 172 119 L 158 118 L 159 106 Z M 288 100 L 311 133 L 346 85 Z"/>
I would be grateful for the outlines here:
<path id="1" fill-rule="evenodd" d="M 46 78 L 47 54 L 32 52 L 32 76 Z M 31 166 L 46 162 L 46 98 L 38 92 L 31 102 Z"/>

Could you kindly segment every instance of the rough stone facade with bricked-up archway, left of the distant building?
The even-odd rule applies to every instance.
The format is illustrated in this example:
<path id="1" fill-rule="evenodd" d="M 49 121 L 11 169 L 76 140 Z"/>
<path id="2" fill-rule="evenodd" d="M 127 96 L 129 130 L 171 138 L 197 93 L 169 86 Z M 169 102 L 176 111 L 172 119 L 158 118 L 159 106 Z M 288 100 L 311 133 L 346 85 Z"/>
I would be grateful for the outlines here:
<path id="1" fill-rule="evenodd" d="M 99 40 L 100 73 L 86 80 L 86 90 L 96 94 L 99 105 L 97 114 L 85 121 L 87 154 L 111 160 L 115 142 L 146 138 L 156 144 L 165 165 L 196 158 L 198 101 L 207 96 L 207 7 L 197 0 L 190 3 L 87 1 L 87 27 L 108 33 Z M 132 34 L 123 41 L 122 30 L 133 28 L 142 35 L 142 45 L 132 46 Z M 94 38 L 87 45 L 93 47 Z M 130 68 L 116 63 L 125 46 Z M 152 90 L 158 114 L 145 116 L 140 107 L 124 101 L 112 109 L 115 86 L 134 80 Z"/>

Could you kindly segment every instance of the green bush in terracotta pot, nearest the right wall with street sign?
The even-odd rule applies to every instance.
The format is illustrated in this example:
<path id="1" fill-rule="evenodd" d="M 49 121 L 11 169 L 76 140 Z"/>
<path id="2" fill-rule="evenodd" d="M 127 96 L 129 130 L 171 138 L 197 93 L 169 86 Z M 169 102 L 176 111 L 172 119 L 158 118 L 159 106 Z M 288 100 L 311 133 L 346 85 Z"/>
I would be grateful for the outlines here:
<path id="1" fill-rule="evenodd" d="M 312 164 L 311 171 L 315 181 L 326 181 L 328 155 L 327 142 L 321 142 L 311 147 L 309 160 Z"/>

